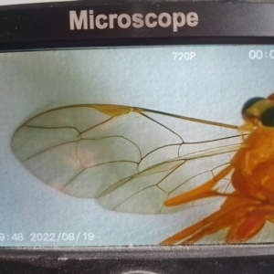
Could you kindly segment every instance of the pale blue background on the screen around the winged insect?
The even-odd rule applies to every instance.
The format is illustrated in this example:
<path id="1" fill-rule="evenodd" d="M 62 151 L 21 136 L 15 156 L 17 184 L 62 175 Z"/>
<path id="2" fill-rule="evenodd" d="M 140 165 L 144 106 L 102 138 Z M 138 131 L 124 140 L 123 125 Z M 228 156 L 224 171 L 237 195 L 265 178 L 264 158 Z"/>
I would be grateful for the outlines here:
<path id="1" fill-rule="evenodd" d="M 63 194 L 26 170 L 11 150 L 12 136 L 38 113 L 75 104 L 135 106 L 240 125 L 242 104 L 274 91 L 273 49 L 189 46 L 1 53 L 0 246 L 156 245 L 193 224 L 203 214 L 201 206 L 171 214 L 130 214 Z M 259 51 L 258 58 L 249 58 L 250 50 Z M 253 241 L 273 241 L 268 226 Z M 206 242 L 222 239 L 222 233 Z"/>

